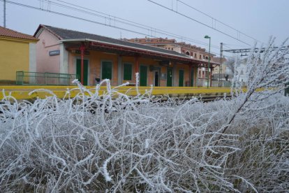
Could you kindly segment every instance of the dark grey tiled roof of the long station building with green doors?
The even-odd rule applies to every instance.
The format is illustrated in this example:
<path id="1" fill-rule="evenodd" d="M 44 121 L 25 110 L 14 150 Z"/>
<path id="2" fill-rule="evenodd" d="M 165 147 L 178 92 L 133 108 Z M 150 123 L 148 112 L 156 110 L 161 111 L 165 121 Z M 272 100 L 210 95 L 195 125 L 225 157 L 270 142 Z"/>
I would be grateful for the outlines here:
<path id="1" fill-rule="evenodd" d="M 105 36 L 98 36 L 96 34 L 88 34 L 88 33 L 80 32 L 80 31 L 73 31 L 73 30 L 69 30 L 69 29 L 61 29 L 58 27 L 51 27 L 51 26 L 47 26 L 47 25 L 43 25 L 43 24 L 40 25 L 40 27 L 44 27 L 45 29 L 50 31 L 52 34 L 57 36 L 59 38 L 59 40 L 87 38 L 87 39 L 91 39 L 94 41 L 102 41 L 105 43 L 112 43 L 112 44 L 118 44 L 118 45 L 133 47 L 133 48 L 139 48 L 139 49 L 149 50 L 152 52 L 163 52 L 165 54 L 175 55 L 178 57 L 186 57 L 185 55 L 182 55 L 178 52 L 175 52 L 172 50 L 165 50 L 165 49 L 157 48 L 157 47 L 150 46 L 150 45 L 143 45 L 140 43 L 132 43 L 129 41 L 123 41 L 123 40 L 119 40 L 119 39 L 108 38 Z M 38 27 L 34 36 L 36 36 L 38 34 L 40 27 Z"/>

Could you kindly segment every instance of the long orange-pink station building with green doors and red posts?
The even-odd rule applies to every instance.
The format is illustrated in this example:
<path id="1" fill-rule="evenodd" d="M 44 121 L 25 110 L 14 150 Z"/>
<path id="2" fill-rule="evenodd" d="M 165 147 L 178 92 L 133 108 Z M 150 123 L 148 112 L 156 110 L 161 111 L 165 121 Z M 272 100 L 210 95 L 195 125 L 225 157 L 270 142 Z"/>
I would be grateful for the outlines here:
<path id="1" fill-rule="evenodd" d="M 84 85 L 110 79 L 112 85 L 193 86 L 207 62 L 150 45 L 40 25 L 34 34 L 38 72 L 76 73 Z M 213 63 L 212 66 L 217 63 Z"/>

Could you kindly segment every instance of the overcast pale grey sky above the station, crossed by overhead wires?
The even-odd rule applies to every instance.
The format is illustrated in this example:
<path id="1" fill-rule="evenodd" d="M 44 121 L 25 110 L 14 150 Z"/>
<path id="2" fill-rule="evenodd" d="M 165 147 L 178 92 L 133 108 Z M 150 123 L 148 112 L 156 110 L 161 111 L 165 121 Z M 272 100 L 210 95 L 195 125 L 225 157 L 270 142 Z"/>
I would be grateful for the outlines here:
<path id="1" fill-rule="evenodd" d="M 174 38 L 167 33 L 170 32 L 175 34 L 174 36 L 177 41 L 186 41 L 187 43 L 201 46 L 207 50 L 209 47 L 207 43 L 209 41 L 203 37 L 209 35 L 212 37 L 212 52 L 216 53 L 219 53 L 219 45 L 221 42 L 225 43 L 225 49 L 249 48 L 249 45 L 240 42 L 244 41 L 253 45 L 254 40 L 247 36 L 251 36 L 263 43 L 268 41 L 269 36 L 276 36 L 276 43 L 279 44 L 289 35 L 288 0 L 151 0 L 162 6 L 168 7 L 170 10 L 147 0 L 51 0 L 51 3 L 47 3 L 45 0 L 9 1 L 89 20 L 77 20 L 75 18 L 65 17 L 47 11 L 45 12 L 43 10 L 6 3 L 6 27 L 26 34 L 34 34 L 39 24 L 74 29 L 102 36 L 110 36 L 112 38 L 135 38 L 144 36 Z M 89 14 L 87 14 L 59 5 L 57 6 L 54 3 L 60 3 L 71 7 L 73 6 L 68 3 L 73 3 L 91 10 L 86 9 L 85 11 L 89 12 Z M 0 23 L 3 25 L 3 0 L 0 0 L 0 5 Z M 214 17 L 214 19 L 189 6 Z M 118 18 L 96 13 L 93 12 L 93 10 L 143 24 L 147 27 L 133 27 L 131 22 L 129 22 L 130 24 L 124 24 L 118 22 Z M 179 15 L 176 12 L 186 15 L 187 17 Z M 91 15 L 91 13 L 97 15 Z M 103 17 L 99 17 L 99 15 Z M 198 22 L 193 20 L 197 20 Z M 95 22 L 102 24 L 96 24 Z M 213 27 L 214 29 L 218 29 L 234 38 L 226 36 L 212 28 L 205 27 L 199 22 L 202 22 L 209 27 Z M 241 31 L 247 36 L 221 24 L 221 22 Z M 108 27 L 103 24 L 111 25 L 113 27 Z M 140 34 L 129 32 L 125 29 L 138 31 Z M 165 34 L 159 34 L 158 29 L 165 31 Z M 182 36 L 184 38 L 176 38 L 176 36 Z M 240 41 L 237 41 L 235 38 Z"/>

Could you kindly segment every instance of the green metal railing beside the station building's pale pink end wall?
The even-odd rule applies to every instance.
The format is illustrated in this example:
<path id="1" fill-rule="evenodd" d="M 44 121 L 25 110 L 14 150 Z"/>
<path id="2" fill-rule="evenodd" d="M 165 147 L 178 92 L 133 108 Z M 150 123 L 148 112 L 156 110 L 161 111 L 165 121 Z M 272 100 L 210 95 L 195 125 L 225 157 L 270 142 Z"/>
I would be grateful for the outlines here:
<path id="1" fill-rule="evenodd" d="M 69 73 L 16 72 L 17 85 L 72 85 L 75 79 L 78 76 Z"/>

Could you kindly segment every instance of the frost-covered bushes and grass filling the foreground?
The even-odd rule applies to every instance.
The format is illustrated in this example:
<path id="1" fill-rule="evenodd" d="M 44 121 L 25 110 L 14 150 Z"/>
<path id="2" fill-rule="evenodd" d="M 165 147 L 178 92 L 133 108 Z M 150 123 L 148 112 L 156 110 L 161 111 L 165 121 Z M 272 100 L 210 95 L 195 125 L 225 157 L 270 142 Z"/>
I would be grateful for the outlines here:
<path id="1" fill-rule="evenodd" d="M 288 81 L 289 73 L 284 76 Z M 255 92 L 276 78 L 267 79 L 252 78 L 247 92 L 210 103 L 162 101 L 150 91 L 131 97 L 111 89 L 108 80 L 103 95 L 99 85 L 94 91 L 79 85 L 80 93 L 71 98 L 68 90 L 64 100 L 45 90 L 37 91 L 50 96 L 34 103 L 6 96 L 0 104 L 0 189 L 284 192 L 289 97 L 280 93 L 281 84 Z"/>

